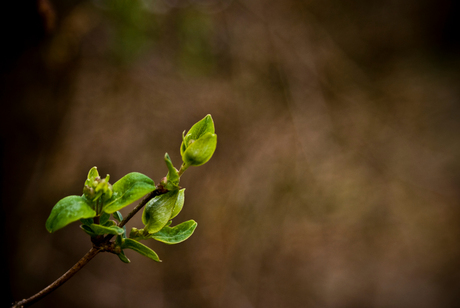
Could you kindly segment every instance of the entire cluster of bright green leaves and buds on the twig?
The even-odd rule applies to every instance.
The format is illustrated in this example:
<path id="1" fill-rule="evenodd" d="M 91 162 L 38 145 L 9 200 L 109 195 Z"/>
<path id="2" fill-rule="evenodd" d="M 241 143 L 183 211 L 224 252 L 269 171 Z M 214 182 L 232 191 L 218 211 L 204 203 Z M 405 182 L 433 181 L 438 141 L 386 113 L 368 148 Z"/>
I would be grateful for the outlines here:
<path id="1" fill-rule="evenodd" d="M 91 237 L 93 246 L 101 251 L 114 253 L 125 263 L 130 262 L 125 249 L 161 262 L 158 255 L 140 241 L 154 239 L 177 244 L 193 234 L 197 227 L 194 220 L 171 226 L 172 219 L 181 212 L 185 201 L 185 188 L 179 186 L 180 178 L 190 166 L 200 166 L 209 161 L 216 145 L 214 122 L 211 115 L 207 115 L 187 134 L 183 133 L 179 170 L 174 167 L 168 153 L 165 154 L 168 173 L 157 185 L 138 172 L 129 173 L 112 185 L 109 175 L 101 178 L 97 168 L 93 167 L 88 172 L 83 194 L 61 199 L 51 210 L 46 229 L 52 233 L 80 221 L 81 229 Z M 147 200 L 142 213 L 144 227 L 132 228 L 128 235 L 125 224 L 129 219 L 124 220 L 120 210 L 144 196 Z M 111 240 L 113 237 L 115 239 Z"/>

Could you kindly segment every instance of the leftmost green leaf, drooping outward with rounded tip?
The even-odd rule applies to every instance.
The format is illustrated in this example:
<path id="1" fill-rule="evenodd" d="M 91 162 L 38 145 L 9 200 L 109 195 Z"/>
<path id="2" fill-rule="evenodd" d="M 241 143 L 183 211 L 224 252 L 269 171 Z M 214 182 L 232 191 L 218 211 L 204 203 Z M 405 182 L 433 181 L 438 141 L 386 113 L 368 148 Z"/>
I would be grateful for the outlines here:
<path id="1" fill-rule="evenodd" d="M 96 212 L 80 196 L 68 196 L 61 199 L 51 210 L 46 220 L 46 230 L 54 232 L 82 218 L 96 216 Z"/>

